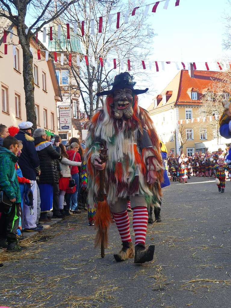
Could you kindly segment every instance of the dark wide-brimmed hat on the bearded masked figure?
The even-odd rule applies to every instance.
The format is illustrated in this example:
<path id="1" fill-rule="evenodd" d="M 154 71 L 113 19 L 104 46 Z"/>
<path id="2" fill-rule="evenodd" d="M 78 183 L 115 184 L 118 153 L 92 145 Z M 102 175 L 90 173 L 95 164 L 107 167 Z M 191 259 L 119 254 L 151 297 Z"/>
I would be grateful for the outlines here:
<path id="1" fill-rule="evenodd" d="M 136 95 L 148 91 L 148 88 L 146 88 L 145 90 L 134 89 L 135 84 L 136 83 L 133 81 L 133 76 L 131 76 L 128 72 L 120 73 L 119 75 L 115 76 L 111 90 L 98 92 L 96 96 L 112 94 L 114 91 L 118 89 L 125 89 L 125 88 L 131 89 L 132 92 Z"/>

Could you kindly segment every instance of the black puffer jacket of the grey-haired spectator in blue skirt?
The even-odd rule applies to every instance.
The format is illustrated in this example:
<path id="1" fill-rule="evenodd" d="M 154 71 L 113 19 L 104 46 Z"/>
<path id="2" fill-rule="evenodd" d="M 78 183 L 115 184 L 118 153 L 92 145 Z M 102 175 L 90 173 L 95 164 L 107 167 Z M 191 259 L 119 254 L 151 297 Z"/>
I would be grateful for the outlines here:
<path id="1" fill-rule="evenodd" d="M 59 177 L 55 160 L 61 159 L 60 153 L 53 148 L 51 142 L 44 140 L 42 137 L 35 138 L 35 148 L 40 160 L 41 174 L 39 184 L 58 184 Z"/>

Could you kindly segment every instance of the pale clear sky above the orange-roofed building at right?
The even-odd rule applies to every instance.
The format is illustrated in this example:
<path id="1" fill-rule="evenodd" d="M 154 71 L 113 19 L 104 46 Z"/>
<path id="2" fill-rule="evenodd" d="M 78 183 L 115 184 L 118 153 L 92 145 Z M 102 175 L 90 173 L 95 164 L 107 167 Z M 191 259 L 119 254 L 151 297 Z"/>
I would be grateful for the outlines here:
<path id="1" fill-rule="evenodd" d="M 222 47 L 225 34 L 224 16 L 229 8 L 227 0 L 180 0 L 178 7 L 175 7 L 175 0 L 170 0 L 167 10 L 163 9 L 163 4 L 164 2 L 161 2 L 157 12 L 149 16 L 157 34 L 152 42 L 151 59 L 183 61 L 185 64 L 203 62 L 197 65 L 197 69 L 205 70 L 204 62 L 217 62 L 229 55 Z M 212 67 L 212 63 L 209 67 L 216 69 L 216 66 Z M 148 68 L 148 79 L 139 81 L 136 85 L 150 89 L 150 95 L 140 97 L 139 103 L 142 107 L 147 108 L 152 99 L 178 73 L 175 63 L 168 64 L 165 71 L 162 71 L 161 67 L 159 69 L 158 73 L 151 73 Z"/>

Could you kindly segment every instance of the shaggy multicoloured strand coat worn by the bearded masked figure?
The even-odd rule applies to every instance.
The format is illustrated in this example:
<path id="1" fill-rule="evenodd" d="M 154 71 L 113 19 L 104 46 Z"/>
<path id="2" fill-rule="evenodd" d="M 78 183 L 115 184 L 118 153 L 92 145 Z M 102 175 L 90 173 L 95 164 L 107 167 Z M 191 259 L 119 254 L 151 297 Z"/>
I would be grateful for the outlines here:
<path id="1" fill-rule="evenodd" d="M 141 194 L 147 204 L 155 205 L 161 197 L 163 163 L 159 138 L 146 110 L 138 106 L 134 95 L 133 115 L 130 119 L 115 119 L 113 97 L 108 95 L 102 110 L 92 118 L 86 140 L 89 204 L 97 203 L 99 172 L 93 167 L 92 158 L 100 153 L 102 146 L 108 149 L 105 168 L 105 194 L 109 205 L 119 197 Z M 146 146 L 144 144 L 146 140 Z M 147 160 L 151 161 L 157 180 L 147 184 Z"/>

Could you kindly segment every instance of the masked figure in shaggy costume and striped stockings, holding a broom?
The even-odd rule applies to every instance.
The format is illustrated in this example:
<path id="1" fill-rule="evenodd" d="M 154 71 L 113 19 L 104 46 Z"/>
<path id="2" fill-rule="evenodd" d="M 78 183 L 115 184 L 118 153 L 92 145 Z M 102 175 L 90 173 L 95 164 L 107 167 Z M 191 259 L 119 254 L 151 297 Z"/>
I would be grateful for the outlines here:
<path id="1" fill-rule="evenodd" d="M 97 93 L 107 97 L 103 109 L 91 120 L 85 155 L 89 205 L 97 204 L 96 245 L 101 244 L 101 257 L 107 245 L 111 211 L 122 240 L 122 249 L 114 254 L 115 260 L 134 257 L 134 263 L 144 263 L 153 260 L 155 249 L 155 245 L 145 247 L 147 206 L 159 207 L 164 167 L 153 122 L 147 111 L 138 106 L 137 95 L 148 89 L 134 89 L 134 85 L 133 76 L 124 72 L 115 76 L 111 90 Z M 135 249 L 130 236 L 127 196 L 133 209 Z"/>

